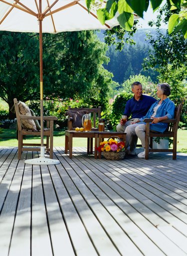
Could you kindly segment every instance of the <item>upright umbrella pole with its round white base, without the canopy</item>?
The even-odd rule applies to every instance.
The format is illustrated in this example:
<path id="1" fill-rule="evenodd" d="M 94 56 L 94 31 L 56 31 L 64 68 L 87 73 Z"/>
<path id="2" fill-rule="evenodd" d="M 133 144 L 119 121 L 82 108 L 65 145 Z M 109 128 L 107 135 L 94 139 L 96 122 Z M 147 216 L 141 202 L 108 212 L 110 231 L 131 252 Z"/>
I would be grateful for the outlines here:
<path id="1" fill-rule="evenodd" d="M 39 0 L 39 9 L 41 13 L 41 0 Z M 56 159 L 45 158 L 45 147 L 43 145 L 43 46 L 42 46 L 42 14 L 38 17 L 39 20 L 39 76 L 40 76 L 40 126 L 41 126 L 41 148 L 40 157 L 25 160 L 25 164 L 32 165 L 56 165 L 60 161 Z M 51 139 L 51 138 L 50 138 Z"/>

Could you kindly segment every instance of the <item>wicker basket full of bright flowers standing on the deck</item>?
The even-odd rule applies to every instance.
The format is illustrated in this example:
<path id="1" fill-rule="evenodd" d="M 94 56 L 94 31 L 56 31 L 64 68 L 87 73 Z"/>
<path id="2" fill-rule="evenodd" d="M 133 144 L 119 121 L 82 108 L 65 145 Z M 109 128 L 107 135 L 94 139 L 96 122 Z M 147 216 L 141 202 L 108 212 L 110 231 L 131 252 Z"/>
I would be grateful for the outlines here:
<path id="1" fill-rule="evenodd" d="M 125 157 L 125 142 L 118 136 L 112 136 L 107 141 L 102 141 L 96 150 L 102 152 L 107 160 L 122 160 Z"/>

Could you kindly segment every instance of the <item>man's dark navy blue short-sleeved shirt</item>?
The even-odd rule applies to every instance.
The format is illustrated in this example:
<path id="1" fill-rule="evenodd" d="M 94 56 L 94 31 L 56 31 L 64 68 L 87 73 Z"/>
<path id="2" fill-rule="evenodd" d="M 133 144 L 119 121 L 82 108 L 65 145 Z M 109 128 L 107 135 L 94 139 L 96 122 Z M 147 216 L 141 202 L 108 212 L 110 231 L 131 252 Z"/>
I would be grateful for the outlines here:
<path id="1" fill-rule="evenodd" d="M 155 102 L 155 98 L 147 95 L 142 95 L 139 100 L 133 97 L 127 101 L 124 115 L 131 116 L 131 118 L 141 118 L 147 114 L 151 105 Z"/>

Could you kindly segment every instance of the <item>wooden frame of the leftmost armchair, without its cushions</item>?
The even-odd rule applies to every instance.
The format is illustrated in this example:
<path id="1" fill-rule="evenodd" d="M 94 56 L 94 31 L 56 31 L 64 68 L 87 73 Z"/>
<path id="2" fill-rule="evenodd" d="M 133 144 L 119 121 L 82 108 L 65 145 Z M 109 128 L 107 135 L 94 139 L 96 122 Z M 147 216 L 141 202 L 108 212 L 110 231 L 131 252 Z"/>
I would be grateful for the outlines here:
<path id="1" fill-rule="evenodd" d="M 18 102 L 17 99 L 13 99 L 14 102 L 14 108 L 15 108 L 15 114 L 17 119 L 17 132 L 18 132 L 18 155 L 17 158 L 21 159 L 21 153 L 22 151 L 40 151 L 39 146 L 41 146 L 40 143 L 23 143 L 23 136 L 25 135 L 32 135 L 32 136 L 40 136 L 40 130 L 30 130 L 23 128 L 22 122 L 24 120 L 40 120 L 40 116 L 28 116 L 28 115 L 21 115 L 18 108 Z M 44 116 L 43 120 L 46 121 L 46 128 L 44 128 L 43 135 L 46 136 L 46 143 L 44 146 L 46 146 L 45 150 L 47 153 L 49 153 L 49 157 L 53 158 L 53 124 L 54 121 L 57 120 L 56 116 Z M 32 146 L 24 147 L 24 146 Z M 37 146 L 37 148 L 36 148 Z"/>

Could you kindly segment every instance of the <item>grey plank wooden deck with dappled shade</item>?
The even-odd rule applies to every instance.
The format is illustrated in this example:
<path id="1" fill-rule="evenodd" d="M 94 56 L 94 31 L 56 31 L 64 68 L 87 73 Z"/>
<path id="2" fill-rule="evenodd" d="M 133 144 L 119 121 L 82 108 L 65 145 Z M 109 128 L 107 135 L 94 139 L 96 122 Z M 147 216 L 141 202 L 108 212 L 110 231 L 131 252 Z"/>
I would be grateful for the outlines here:
<path id="1" fill-rule="evenodd" d="M 0 256 L 187 256 L 187 154 L 85 152 L 32 166 L 0 149 Z"/>

